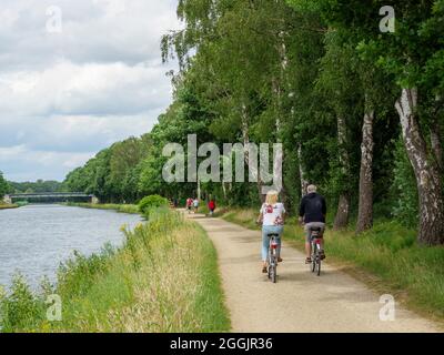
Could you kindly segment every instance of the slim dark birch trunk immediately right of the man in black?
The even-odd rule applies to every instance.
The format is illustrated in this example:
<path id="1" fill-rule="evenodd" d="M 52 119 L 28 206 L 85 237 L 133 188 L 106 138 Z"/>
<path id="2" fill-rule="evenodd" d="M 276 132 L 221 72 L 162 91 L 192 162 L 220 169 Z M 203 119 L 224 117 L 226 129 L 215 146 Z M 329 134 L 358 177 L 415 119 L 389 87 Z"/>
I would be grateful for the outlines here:
<path id="1" fill-rule="evenodd" d="M 342 116 L 337 116 L 337 143 L 340 148 L 340 164 L 342 166 L 342 174 L 349 176 L 350 173 L 350 159 L 346 150 L 346 125 Z M 347 180 L 347 179 L 346 179 Z M 347 182 L 345 182 L 347 183 Z M 336 216 L 334 217 L 334 230 L 342 230 L 347 226 L 350 216 L 350 193 L 349 186 L 345 186 L 340 195 Z"/>

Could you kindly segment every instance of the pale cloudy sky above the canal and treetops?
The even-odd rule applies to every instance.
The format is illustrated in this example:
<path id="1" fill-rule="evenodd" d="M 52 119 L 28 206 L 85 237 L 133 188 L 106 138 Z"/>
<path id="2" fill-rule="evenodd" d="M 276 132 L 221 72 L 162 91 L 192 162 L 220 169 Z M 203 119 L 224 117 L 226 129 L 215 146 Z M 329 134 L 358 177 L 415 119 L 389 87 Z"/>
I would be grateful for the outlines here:
<path id="1" fill-rule="evenodd" d="M 178 0 L 2 0 L 0 171 L 63 180 L 171 102 L 160 38 Z"/>

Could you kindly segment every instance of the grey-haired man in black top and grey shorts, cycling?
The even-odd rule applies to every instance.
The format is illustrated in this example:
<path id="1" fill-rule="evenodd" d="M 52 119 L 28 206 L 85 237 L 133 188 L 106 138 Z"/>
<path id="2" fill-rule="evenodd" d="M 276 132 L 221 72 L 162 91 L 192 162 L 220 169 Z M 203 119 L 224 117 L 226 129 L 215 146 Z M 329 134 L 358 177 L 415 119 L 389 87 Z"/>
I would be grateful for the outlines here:
<path id="1" fill-rule="evenodd" d="M 302 197 L 299 211 L 299 221 L 305 224 L 305 264 L 310 264 L 312 262 L 312 245 L 310 241 L 312 229 L 321 229 L 321 237 L 325 231 L 326 203 L 325 199 L 316 191 L 317 187 L 315 185 L 310 185 L 306 187 L 307 194 Z M 321 260 L 324 260 L 325 253 L 323 239 L 321 239 Z"/>

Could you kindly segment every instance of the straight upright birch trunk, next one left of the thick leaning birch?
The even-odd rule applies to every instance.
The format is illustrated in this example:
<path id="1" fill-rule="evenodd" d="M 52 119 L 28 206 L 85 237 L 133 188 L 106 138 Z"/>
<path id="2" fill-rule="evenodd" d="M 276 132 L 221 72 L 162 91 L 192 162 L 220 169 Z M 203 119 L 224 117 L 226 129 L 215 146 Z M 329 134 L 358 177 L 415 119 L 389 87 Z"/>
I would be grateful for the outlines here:
<path id="1" fill-rule="evenodd" d="M 373 225 L 373 121 L 374 111 L 364 114 L 361 144 L 360 205 L 356 233 Z"/>

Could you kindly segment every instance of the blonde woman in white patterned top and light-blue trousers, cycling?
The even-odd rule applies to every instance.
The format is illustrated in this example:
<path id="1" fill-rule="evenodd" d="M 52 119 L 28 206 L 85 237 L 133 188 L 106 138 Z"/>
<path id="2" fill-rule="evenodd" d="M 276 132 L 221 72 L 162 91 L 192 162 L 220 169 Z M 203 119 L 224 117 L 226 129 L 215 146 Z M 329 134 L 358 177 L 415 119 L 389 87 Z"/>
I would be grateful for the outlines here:
<path id="1" fill-rule="evenodd" d="M 265 203 L 262 204 L 258 223 L 262 223 L 262 272 L 268 273 L 268 256 L 270 246 L 269 234 L 279 234 L 276 239 L 278 247 L 278 262 L 281 263 L 281 236 L 284 227 L 285 207 L 283 203 L 278 202 L 278 191 L 270 191 L 266 194 Z"/>

